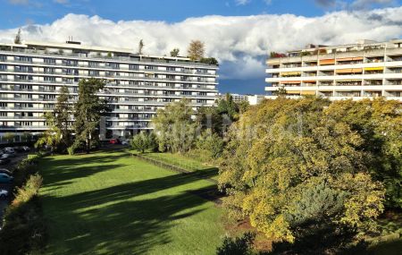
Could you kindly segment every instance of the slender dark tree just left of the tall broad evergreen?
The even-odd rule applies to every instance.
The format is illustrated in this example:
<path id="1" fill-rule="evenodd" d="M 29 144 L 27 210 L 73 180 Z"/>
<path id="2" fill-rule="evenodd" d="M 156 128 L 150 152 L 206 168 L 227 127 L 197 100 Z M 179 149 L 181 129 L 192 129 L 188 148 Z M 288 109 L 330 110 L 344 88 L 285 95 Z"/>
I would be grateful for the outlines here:
<path id="1" fill-rule="evenodd" d="M 62 134 L 63 151 L 71 146 L 71 105 L 69 89 L 63 86 L 54 106 L 54 122 Z"/>

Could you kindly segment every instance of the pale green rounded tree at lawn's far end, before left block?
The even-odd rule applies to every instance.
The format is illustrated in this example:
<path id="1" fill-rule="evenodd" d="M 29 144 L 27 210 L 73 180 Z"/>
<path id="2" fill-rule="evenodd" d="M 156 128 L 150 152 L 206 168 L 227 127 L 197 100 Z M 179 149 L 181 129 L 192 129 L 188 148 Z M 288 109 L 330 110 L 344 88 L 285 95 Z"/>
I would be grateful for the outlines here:
<path id="1" fill-rule="evenodd" d="M 197 123 L 192 120 L 193 114 L 186 99 L 158 109 L 152 123 L 159 150 L 182 153 L 191 149 L 197 130 Z"/>

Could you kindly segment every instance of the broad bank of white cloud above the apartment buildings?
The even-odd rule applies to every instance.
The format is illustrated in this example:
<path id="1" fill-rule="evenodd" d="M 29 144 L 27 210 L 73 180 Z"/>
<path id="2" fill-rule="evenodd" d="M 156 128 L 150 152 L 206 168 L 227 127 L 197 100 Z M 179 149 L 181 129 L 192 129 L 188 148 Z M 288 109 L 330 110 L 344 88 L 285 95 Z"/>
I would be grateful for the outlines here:
<path id="1" fill-rule="evenodd" d="M 0 41 L 11 42 L 17 29 L 0 30 Z M 374 11 L 335 12 L 321 17 L 292 14 L 243 17 L 205 16 L 176 23 L 164 21 L 108 21 L 98 16 L 68 14 L 46 25 L 27 25 L 22 39 L 63 42 L 69 36 L 88 45 L 129 47 L 168 55 L 174 47 L 186 54 L 191 39 L 205 42 L 206 55 L 216 57 L 223 79 L 264 79 L 264 58 L 270 51 L 287 51 L 309 43 L 336 45 L 367 38 L 402 36 L 402 7 Z"/>

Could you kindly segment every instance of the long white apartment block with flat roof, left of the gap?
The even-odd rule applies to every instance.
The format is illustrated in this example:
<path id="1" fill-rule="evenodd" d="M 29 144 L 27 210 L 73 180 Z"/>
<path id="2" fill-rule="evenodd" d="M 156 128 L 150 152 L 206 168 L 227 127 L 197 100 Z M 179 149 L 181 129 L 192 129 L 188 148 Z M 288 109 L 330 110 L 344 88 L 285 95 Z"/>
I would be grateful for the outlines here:
<path id="1" fill-rule="evenodd" d="M 25 42 L 0 44 L 0 132 L 43 132 L 59 89 L 77 100 L 80 79 L 106 81 L 112 112 L 105 129 L 124 135 L 150 128 L 159 107 L 187 98 L 197 109 L 213 106 L 217 66 L 182 57 L 134 54 L 130 49 Z"/>

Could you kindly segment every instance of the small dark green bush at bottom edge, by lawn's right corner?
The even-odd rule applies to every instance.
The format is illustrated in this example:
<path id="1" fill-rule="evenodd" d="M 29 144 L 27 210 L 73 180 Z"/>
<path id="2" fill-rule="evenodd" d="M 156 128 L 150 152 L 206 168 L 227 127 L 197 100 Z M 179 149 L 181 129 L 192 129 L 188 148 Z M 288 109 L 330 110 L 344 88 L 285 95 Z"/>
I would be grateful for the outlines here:
<path id="1" fill-rule="evenodd" d="M 225 236 L 222 246 L 216 250 L 217 255 L 247 255 L 252 254 L 252 245 L 255 239 L 254 233 L 246 233 L 239 237 Z"/>

